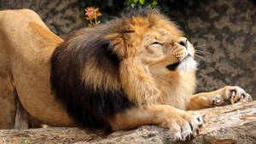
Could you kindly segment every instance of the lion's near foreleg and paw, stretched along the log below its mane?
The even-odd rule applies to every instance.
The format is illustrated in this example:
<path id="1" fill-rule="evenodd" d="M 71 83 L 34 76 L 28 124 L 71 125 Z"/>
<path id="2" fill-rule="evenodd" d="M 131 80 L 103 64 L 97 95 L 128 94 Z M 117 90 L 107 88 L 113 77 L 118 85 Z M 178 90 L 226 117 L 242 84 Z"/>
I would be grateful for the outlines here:
<path id="1" fill-rule="evenodd" d="M 132 107 L 125 112 L 109 118 L 113 130 L 129 130 L 144 124 L 157 124 L 169 128 L 175 139 L 185 140 L 190 135 L 196 135 L 202 116 L 197 113 L 185 112 L 166 105 Z"/>

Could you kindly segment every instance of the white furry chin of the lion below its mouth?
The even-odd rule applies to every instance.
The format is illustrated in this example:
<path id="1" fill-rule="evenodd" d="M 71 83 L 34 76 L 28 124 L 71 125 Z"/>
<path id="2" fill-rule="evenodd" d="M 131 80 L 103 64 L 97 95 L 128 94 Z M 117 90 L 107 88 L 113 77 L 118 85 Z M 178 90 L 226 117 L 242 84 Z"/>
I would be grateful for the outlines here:
<path id="1" fill-rule="evenodd" d="M 197 70 L 197 62 L 191 56 L 183 60 L 177 66 L 178 72 L 190 72 L 190 71 L 196 71 L 196 70 Z"/>

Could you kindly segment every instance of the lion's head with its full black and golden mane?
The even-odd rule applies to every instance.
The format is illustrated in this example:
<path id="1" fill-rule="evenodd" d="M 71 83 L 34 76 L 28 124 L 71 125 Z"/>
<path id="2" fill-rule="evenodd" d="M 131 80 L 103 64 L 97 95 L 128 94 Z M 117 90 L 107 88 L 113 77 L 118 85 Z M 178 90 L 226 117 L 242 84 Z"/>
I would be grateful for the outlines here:
<path id="1" fill-rule="evenodd" d="M 68 36 L 51 58 L 51 85 L 80 124 L 109 127 L 128 107 L 185 109 L 195 89 L 195 49 L 172 21 L 137 10 Z"/>

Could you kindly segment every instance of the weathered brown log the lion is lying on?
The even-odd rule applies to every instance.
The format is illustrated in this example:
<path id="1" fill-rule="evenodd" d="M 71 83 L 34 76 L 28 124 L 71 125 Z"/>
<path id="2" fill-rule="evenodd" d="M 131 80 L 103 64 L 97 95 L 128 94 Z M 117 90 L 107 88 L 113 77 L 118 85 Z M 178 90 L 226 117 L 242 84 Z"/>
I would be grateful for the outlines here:
<path id="1" fill-rule="evenodd" d="M 256 101 L 197 112 L 207 113 L 206 124 L 200 130 L 200 135 L 190 140 L 189 143 L 256 143 Z M 173 142 L 168 134 L 167 129 L 155 125 L 144 125 L 135 130 L 116 131 L 107 136 L 79 128 L 49 127 L 30 130 L 0 130 L 0 144 L 177 143 Z"/>

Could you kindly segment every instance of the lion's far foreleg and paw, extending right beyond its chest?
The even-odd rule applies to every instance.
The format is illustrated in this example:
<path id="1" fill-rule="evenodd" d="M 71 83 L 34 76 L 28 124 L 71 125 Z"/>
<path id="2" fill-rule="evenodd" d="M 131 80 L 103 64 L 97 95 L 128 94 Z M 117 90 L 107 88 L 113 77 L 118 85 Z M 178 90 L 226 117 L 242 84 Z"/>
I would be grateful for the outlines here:
<path id="1" fill-rule="evenodd" d="M 192 95 L 187 109 L 198 110 L 247 101 L 252 101 L 252 96 L 243 89 L 237 86 L 225 86 L 212 92 Z"/>

